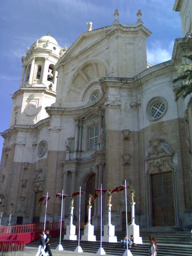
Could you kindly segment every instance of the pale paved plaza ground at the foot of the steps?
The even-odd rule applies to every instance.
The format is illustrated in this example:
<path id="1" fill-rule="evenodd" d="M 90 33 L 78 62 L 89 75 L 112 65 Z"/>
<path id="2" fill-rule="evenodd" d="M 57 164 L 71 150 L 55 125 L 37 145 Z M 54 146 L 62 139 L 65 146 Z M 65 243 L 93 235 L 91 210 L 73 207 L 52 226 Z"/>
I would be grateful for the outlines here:
<path id="1" fill-rule="evenodd" d="M 25 247 L 25 250 L 24 250 L 24 253 L 23 253 L 23 256 L 32 256 L 32 255 L 35 255 L 36 252 L 38 250 L 38 247 L 31 247 L 31 246 L 26 246 Z M 74 253 L 73 251 L 69 251 L 69 250 L 63 250 L 63 251 L 58 251 L 58 250 L 55 250 L 55 249 L 52 249 L 52 256 L 77 256 L 77 255 L 81 255 L 81 256 L 93 256 L 93 255 L 96 255 L 96 253 Z M 106 254 L 106 256 L 112 256 L 111 254 Z M 113 255 L 114 256 L 114 255 Z"/>

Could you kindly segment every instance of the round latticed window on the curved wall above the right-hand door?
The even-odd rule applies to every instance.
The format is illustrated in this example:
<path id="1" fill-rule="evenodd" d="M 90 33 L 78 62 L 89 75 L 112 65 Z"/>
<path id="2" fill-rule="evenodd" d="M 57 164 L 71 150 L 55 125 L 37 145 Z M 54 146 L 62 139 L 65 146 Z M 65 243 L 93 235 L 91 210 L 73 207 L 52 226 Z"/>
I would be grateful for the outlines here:
<path id="1" fill-rule="evenodd" d="M 148 103 L 147 116 L 151 121 L 160 119 L 167 111 L 167 102 L 163 97 L 154 97 Z"/>

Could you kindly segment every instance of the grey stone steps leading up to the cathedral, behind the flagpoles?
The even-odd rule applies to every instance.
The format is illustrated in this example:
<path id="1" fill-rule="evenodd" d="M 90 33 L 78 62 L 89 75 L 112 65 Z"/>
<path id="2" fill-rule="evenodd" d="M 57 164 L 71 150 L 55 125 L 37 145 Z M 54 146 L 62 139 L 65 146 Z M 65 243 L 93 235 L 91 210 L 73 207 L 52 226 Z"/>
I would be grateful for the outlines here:
<path id="1" fill-rule="evenodd" d="M 61 236 L 61 244 L 64 250 L 74 251 L 78 246 L 78 241 L 63 240 L 64 234 Z M 78 233 L 76 233 L 78 235 Z M 80 239 L 81 239 L 80 233 Z M 95 232 L 96 242 L 81 241 L 80 246 L 84 252 L 96 253 L 100 247 L 100 232 Z M 125 248 L 120 247 L 120 240 L 124 238 L 125 232 L 116 232 L 117 243 L 102 242 L 102 247 L 106 254 L 111 255 L 123 255 Z M 157 238 L 157 255 L 158 256 L 192 256 L 192 239 L 190 232 L 179 231 L 174 228 L 151 228 L 141 229 L 140 236 L 143 238 L 143 244 L 137 244 L 136 247 L 131 247 L 131 253 L 133 256 L 148 256 L 149 244 L 148 235 L 155 236 Z M 33 241 L 29 246 L 37 246 L 39 240 Z M 52 249 L 55 249 L 59 244 L 59 236 L 52 239 Z"/>

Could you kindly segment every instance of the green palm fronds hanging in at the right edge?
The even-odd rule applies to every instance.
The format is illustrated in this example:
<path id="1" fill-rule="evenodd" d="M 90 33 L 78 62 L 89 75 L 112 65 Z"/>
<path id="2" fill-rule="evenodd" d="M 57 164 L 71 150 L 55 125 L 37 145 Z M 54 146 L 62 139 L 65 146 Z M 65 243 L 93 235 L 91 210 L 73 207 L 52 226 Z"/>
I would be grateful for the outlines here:
<path id="1" fill-rule="evenodd" d="M 192 61 L 192 53 L 184 55 L 183 57 Z M 181 64 L 177 69 L 180 72 L 180 75 L 173 79 L 173 83 L 176 83 L 177 81 L 182 81 L 183 83 L 175 92 L 175 101 L 180 97 L 185 99 L 186 96 L 189 96 L 189 102 L 187 104 L 188 110 L 192 105 L 192 63 Z"/>

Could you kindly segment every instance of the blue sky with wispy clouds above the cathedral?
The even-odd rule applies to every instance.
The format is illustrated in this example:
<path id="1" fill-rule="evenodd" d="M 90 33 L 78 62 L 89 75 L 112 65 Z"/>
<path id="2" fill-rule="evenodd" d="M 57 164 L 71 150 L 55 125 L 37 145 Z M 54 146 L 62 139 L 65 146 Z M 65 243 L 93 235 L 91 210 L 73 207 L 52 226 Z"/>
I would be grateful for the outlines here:
<path id="1" fill-rule="evenodd" d="M 10 94 L 19 89 L 21 57 L 41 36 L 50 35 L 67 49 L 87 31 L 87 22 L 98 29 L 113 23 L 115 9 L 120 23 L 136 23 L 137 10 L 147 38 L 148 62 L 155 65 L 171 59 L 176 38 L 182 37 L 175 0 L 0 0 L 0 132 L 9 128 Z M 0 155 L 3 138 L 0 136 Z"/>

